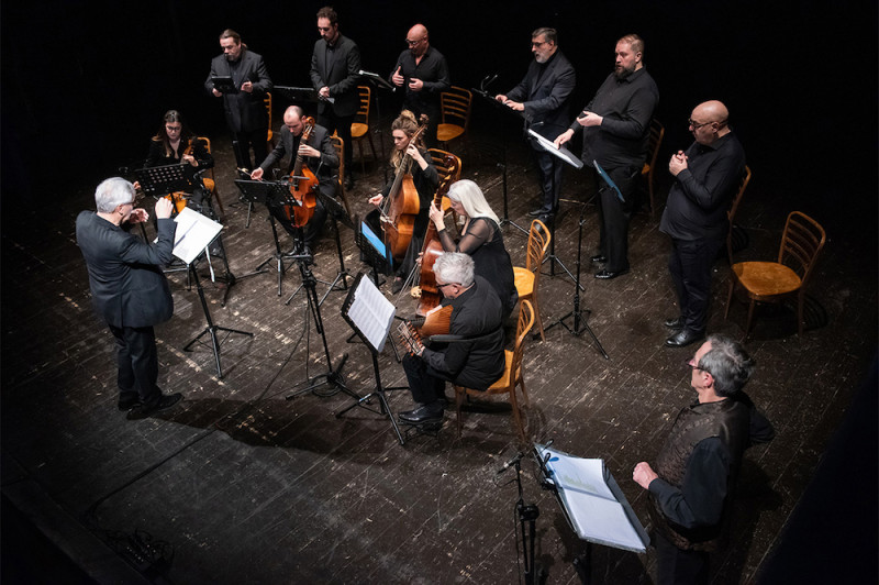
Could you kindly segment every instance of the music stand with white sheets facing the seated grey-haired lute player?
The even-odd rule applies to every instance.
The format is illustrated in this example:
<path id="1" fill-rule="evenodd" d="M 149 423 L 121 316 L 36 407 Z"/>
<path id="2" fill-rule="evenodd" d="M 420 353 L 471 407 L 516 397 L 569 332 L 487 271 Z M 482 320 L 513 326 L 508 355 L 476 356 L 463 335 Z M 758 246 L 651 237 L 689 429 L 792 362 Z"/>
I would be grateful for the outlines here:
<path id="1" fill-rule="evenodd" d="M 378 354 L 385 347 L 385 341 L 388 339 L 388 332 L 393 323 L 393 313 L 397 309 L 393 305 L 385 298 L 381 291 L 376 287 L 369 278 L 364 278 L 363 273 L 358 273 L 354 284 L 342 305 L 342 317 L 351 325 L 354 332 L 363 340 L 372 355 L 372 372 L 376 376 L 376 389 L 359 398 L 356 402 L 340 410 L 336 418 L 342 417 L 348 410 L 355 407 L 365 408 L 370 412 L 388 417 L 391 421 L 393 432 L 397 434 L 397 440 L 400 444 L 405 444 L 403 435 L 400 433 L 400 428 L 397 426 L 397 420 L 393 418 L 388 399 L 385 397 L 386 388 L 381 386 L 381 374 L 378 368 Z M 369 399 L 376 397 L 379 401 L 379 410 L 375 410 L 367 406 Z"/>

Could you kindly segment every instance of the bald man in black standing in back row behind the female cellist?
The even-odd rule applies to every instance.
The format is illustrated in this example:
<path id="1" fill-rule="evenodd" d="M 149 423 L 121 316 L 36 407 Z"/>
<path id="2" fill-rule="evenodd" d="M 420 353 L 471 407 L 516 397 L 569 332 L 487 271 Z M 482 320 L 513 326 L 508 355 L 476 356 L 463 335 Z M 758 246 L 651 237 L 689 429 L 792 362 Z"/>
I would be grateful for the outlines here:
<path id="1" fill-rule="evenodd" d="M 419 119 L 427 114 L 429 125 L 424 133 L 427 147 L 436 145 L 436 126 L 439 124 L 439 93 L 452 86 L 448 79 L 446 58 L 431 46 L 427 29 L 415 24 L 405 35 L 408 49 L 397 57 L 390 81 L 405 87 L 403 109 Z"/>

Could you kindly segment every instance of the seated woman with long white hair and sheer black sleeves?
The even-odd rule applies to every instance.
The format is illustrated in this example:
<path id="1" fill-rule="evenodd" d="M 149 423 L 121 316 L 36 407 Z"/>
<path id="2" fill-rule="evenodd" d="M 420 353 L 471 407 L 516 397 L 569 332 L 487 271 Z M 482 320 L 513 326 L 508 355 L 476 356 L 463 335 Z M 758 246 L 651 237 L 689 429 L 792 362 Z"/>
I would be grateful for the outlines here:
<path id="1" fill-rule="evenodd" d="M 436 233 L 443 250 L 469 254 L 476 264 L 476 274 L 494 287 L 494 291 L 503 305 L 504 318 L 513 312 L 519 292 L 515 290 L 513 263 L 503 245 L 503 232 L 500 220 L 479 186 L 469 180 L 458 180 L 448 189 L 452 209 L 464 218 L 464 228 L 457 243 L 448 234 L 445 214 L 435 205 L 431 205 L 431 221 L 436 225 Z"/>

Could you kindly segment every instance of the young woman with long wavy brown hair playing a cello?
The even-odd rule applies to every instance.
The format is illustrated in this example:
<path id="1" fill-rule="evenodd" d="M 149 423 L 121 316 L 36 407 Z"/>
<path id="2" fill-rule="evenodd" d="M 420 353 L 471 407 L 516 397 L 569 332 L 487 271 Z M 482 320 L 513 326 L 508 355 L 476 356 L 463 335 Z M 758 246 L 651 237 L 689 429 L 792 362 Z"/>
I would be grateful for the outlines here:
<path id="1" fill-rule="evenodd" d="M 405 257 L 398 266 L 391 287 L 392 292 L 399 292 L 403 288 L 403 279 L 412 272 L 415 265 L 415 258 L 421 252 L 421 246 L 424 243 L 424 232 L 427 229 L 430 218 L 427 211 L 433 201 L 433 196 L 439 186 L 439 175 L 433 166 L 431 157 L 424 148 L 422 136 L 419 135 L 418 140 L 412 141 L 412 136 L 419 130 L 419 123 L 415 120 L 415 114 L 409 110 L 403 110 L 400 115 L 391 124 L 391 133 L 393 134 L 393 154 L 391 154 L 391 165 L 394 168 L 394 175 L 401 172 L 401 167 L 407 158 L 407 155 L 414 162 L 411 168 L 412 183 L 415 185 L 415 190 L 419 192 L 419 214 L 415 218 L 415 225 L 412 231 L 412 240 L 407 249 Z M 391 191 L 393 183 L 385 186 L 379 195 L 369 199 L 369 202 L 378 207 Z"/>

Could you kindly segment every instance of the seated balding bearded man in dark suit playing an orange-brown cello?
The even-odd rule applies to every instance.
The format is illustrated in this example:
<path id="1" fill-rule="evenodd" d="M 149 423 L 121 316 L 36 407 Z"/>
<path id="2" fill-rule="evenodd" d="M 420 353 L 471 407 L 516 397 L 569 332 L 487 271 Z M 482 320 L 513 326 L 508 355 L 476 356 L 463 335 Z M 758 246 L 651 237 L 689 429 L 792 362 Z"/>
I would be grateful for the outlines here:
<path id="1" fill-rule="evenodd" d="M 251 178 L 263 180 L 265 172 L 287 155 L 290 156 L 287 174 L 290 174 L 296 166 L 297 156 L 301 156 L 303 157 L 304 165 L 308 166 L 310 172 L 313 173 L 314 177 L 318 179 L 318 188 L 321 194 L 327 197 L 335 197 L 336 186 L 338 185 L 335 173 L 338 168 L 338 155 L 336 155 L 333 143 L 330 142 L 330 135 L 326 129 L 316 124 L 311 131 L 308 142 L 305 144 L 300 144 L 302 132 L 305 129 L 305 123 L 302 118 L 302 108 L 299 106 L 290 106 L 287 108 L 283 112 L 283 128 L 280 130 L 278 145 L 275 146 L 275 150 L 263 161 L 259 168 L 251 173 Z M 290 219 L 291 216 L 288 216 L 283 207 L 269 205 L 268 209 L 283 229 L 287 230 L 287 233 L 297 240 L 297 252 L 311 255 L 311 251 L 314 249 L 314 241 L 320 235 L 321 229 L 326 221 L 326 208 L 324 208 L 321 199 L 316 197 L 314 214 L 308 220 L 304 228 L 297 228 Z M 302 229 L 303 232 L 301 241 L 300 229 Z"/>

